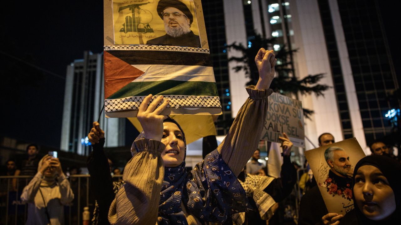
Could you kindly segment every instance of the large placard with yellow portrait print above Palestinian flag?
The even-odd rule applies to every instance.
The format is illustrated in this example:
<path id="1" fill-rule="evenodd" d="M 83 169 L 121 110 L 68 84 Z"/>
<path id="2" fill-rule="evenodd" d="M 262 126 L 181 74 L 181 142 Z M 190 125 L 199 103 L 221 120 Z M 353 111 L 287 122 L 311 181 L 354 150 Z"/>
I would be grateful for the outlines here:
<path id="1" fill-rule="evenodd" d="M 220 115 L 201 0 L 104 0 L 107 117 L 136 117 L 145 96 L 162 115 Z"/>

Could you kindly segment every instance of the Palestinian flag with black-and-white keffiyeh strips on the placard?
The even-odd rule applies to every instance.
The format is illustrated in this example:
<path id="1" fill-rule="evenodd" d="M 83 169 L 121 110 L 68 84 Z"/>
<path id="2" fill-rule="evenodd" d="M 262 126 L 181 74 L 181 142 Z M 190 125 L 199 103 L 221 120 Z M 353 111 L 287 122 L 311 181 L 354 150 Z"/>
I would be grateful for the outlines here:
<path id="1" fill-rule="evenodd" d="M 219 115 L 210 52 L 178 46 L 104 46 L 105 112 L 136 117 L 148 95 L 170 99 L 164 115 Z"/>

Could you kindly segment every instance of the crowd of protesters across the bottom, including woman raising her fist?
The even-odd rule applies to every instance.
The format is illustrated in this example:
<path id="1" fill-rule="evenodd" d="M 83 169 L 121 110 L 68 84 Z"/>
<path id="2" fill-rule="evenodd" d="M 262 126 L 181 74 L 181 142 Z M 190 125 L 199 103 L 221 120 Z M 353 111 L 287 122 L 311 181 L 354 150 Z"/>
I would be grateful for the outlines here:
<path id="1" fill-rule="evenodd" d="M 24 175 L 29 179 L 21 186 L 21 192 L 17 188 L 18 177 L 10 179 L 6 186 L 2 183 L 2 201 L 11 192 L 20 195 L 21 203 L 27 205 L 27 216 L 25 221 L 22 217 L 14 220 L 29 225 L 65 224 L 66 207 L 74 212 L 69 223 L 80 224 L 75 212 L 80 211 L 79 203 L 88 206 L 88 201 L 93 203 L 93 225 L 398 224 L 401 164 L 393 148 L 382 141 L 369 145 L 371 155 L 360 159 L 353 171 L 346 157 L 336 162 L 338 155 L 344 154 L 343 149 L 325 149 L 324 158 L 330 166 L 328 175 L 339 188 L 352 193 L 354 209 L 345 215 L 328 211 L 308 162 L 302 168 L 291 162 L 293 143 L 286 133 L 280 137 L 283 157 L 280 177 L 268 176 L 266 167 L 259 162 L 257 146 L 277 60 L 273 51 L 262 48 L 255 62 L 259 81 L 256 86 L 246 88 L 249 98 L 225 140 L 217 148 L 203 149 L 207 151 L 204 160 L 192 170 L 185 167 L 184 131 L 174 119 L 160 115 L 169 101 L 158 96 L 151 102 L 153 96 L 148 95 L 137 116 L 144 131 L 132 144 L 132 158 L 124 173 L 107 158 L 103 149 L 105 133 L 98 122 L 93 122 L 88 134 L 92 144 L 87 159 L 89 187 L 73 176 L 81 173 L 80 168 L 70 167 L 67 175 L 72 176 L 68 178 L 58 158 L 51 155 L 40 158 L 38 146 L 28 145 L 26 159 L 8 160 L 2 175 Z M 318 143 L 320 147 L 331 145 L 335 143 L 334 136 L 323 133 Z M 297 187 L 302 195 L 298 217 L 294 212 L 298 204 Z M 88 193 L 93 198 L 89 199 Z M 10 218 L 13 210 L 8 214 Z"/>

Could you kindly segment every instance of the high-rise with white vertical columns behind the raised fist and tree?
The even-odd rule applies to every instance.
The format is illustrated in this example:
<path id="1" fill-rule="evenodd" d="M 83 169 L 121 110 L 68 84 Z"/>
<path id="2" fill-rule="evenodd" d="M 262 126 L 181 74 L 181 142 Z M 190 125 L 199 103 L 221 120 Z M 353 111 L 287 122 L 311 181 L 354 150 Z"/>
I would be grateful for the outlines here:
<path id="1" fill-rule="evenodd" d="M 229 74 L 225 88 L 230 90 L 232 117 L 247 98 L 243 87 L 248 78 L 233 70 L 235 63 L 226 64 L 227 58 L 240 53 L 225 52 L 223 46 L 251 45 L 255 30 L 275 37 L 276 51 L 284 45 L 298 50 L 294 76 L 324 73 L 320 82 L 332 87 L 324 97 L 298 96 L 304 108 L 314 110 L 312 121 L 306 120 L 311 140 L 306 149 L 317 146 L 317 137 L 325 132 L 336 141 L 356 137 L 365 151 L 373 139 L 389 134 L 385 114 L 395 106 L 388 96 L 399 86 L 377 0 L 203 0 L 202 4 L 216 80 L 221 62 L 224 74 Z M 222 27 L 217 24 L 222 22 L 225 34 L 219 33 Z M 213 45 L 215 40 L 218 46 Z"/>

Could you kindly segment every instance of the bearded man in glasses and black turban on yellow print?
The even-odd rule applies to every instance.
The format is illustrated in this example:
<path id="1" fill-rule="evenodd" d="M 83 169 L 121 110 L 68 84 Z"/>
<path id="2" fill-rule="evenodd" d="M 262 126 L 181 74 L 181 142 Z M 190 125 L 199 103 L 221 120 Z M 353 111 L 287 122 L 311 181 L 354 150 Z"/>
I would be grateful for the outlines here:
<path id="1" fill-rule="evenodd" d="M 188 46 L 201 48 L 201 41 L 190 26 L 193 16 L 188 7 L 180 0 L 160 0 L 157 12 L 164 21 L 164 36 L 148 40 L 146 44 Z"/>

